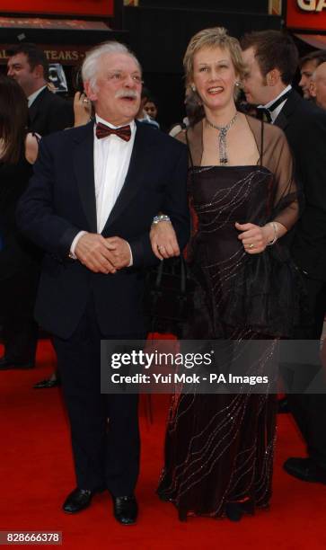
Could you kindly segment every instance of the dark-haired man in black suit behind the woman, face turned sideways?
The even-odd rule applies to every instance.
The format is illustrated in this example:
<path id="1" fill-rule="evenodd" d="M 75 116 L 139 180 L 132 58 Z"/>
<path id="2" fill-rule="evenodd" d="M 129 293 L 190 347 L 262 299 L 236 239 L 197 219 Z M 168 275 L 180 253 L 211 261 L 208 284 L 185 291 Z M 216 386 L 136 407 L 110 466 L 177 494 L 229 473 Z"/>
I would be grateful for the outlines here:
<path id="1" fill-rule="evenodd" d="M 303 185 L 304 212 L 295 228 L 291 253 L 302 272 L 314 324 L 310 350 L 318 360 L 326 286 L 326 112 L 291 87 L 298 63 L 292 38 L 280 31 L 251 32 L 242 39 L 247 65 L 244 92 L 269 122 L 283 129 Z M 289 458 L 285 469 L 304 481 L 326 483 L 326 395 L 288 395 L 291 412 L 307 443 L 307 458 Z"/>

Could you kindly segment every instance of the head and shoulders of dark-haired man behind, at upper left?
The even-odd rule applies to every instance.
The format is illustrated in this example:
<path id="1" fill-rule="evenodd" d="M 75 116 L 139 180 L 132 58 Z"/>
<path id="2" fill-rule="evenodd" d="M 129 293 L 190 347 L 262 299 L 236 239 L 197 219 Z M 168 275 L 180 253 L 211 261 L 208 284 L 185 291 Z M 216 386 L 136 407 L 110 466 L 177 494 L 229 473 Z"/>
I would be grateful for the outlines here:
<path id="1" fill-rule="evenodd" d="M 71 102 L 48 90 L 48 59 L 34 44 L 9 50 L 7 74 L 22 86 L 29 104 L 30 131 L 48 136 L 74 124 Z"/>

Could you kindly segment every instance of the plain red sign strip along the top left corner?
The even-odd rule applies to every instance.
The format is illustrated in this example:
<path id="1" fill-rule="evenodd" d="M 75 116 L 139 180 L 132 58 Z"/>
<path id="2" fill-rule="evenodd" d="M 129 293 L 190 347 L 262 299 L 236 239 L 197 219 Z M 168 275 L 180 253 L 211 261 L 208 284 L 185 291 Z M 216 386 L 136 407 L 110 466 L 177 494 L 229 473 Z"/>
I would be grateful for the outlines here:
<path id="1" fill-rule="evenodd" d="M 112 17 L 113 0 L 1 0 L 0 12 Z"/>

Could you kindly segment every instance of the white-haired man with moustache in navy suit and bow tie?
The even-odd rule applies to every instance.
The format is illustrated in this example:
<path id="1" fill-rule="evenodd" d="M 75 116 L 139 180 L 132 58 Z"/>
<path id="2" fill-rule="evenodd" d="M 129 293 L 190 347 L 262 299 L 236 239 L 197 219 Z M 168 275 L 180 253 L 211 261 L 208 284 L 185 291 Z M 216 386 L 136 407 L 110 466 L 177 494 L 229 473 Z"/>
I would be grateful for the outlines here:
<path id="1" fill-rule="evenodd" d="M 83 510 L 107 488 L 115 518 L 128 525 L 137 519 L 137 395 L 100 394 L 100 343 L 145 337 L 149 231 L 163 211 L 187 243 L 188 157 L 135 120 L 142 74 L 125 46 L 91 50 L 83 79 L 96 120 L 42 139 L 17 218 L 46 253 L 36 315 L 54 334 L 77 479 L 64 510 Z"/>

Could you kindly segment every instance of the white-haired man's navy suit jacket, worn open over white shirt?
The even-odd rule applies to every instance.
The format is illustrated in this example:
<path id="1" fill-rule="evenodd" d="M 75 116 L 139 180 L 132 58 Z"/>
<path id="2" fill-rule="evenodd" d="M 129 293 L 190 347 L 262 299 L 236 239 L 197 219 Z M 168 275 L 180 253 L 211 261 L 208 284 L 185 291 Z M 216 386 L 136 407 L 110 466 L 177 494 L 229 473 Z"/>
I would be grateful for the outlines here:
<path id="1" fill-rule="evenodd" d="M 187 243 L 187 173 L 186 146 L 137 123 L 128 175 L 101 233 L 128 241 L 133 267 L 114 275 L 93 273 L 68 258 L 80 230 L 97 233 L 93 122 L 41 140 L 17 221 L 22 232 L 46 251 L 36 304 L 36 318 L 45 329 L 69 338 L 93 296 L 101 333 L 142 332 L 143 268 L 155 263 L 150 226 L 163 211 L 171 217 L 181 247 Z"/>

